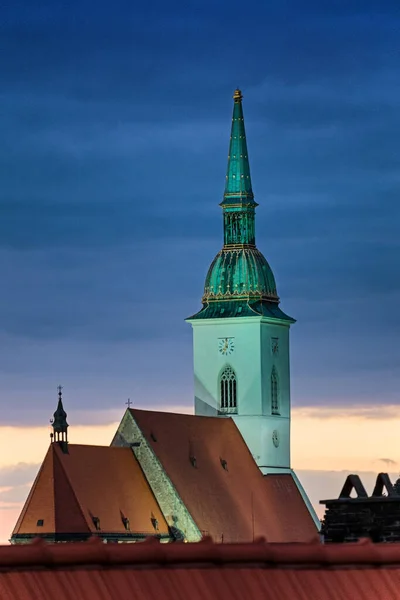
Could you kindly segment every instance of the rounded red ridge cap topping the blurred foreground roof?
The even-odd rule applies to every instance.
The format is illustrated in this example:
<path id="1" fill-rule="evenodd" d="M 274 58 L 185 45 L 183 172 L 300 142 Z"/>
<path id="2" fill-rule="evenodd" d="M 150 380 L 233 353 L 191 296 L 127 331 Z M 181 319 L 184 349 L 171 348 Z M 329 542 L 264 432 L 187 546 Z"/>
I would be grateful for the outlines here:
<path id="1" fill-rule="evenodd" d="M 254 542 L 218 544 L 207 538 L 195 544 L 162 544 L 149 539 L 141 544 L 103 544 L 92 538 L 79 544 L 48 544 L 36 540 L 31 544 L 0 546 L 0 565 L 3 570 L 15 567 L 30 569 L 51 565 L 130 565 L 159 564 L 267 564 L 269 567 L 290 565 L 308 569 L 347 568 L 349 565 L 400 567 L 400 544 L 374 544 L 362 540 L 348 544 L 322 544 L 317 537 L 306 543 L 268 543 L 264 539 Z"/>

